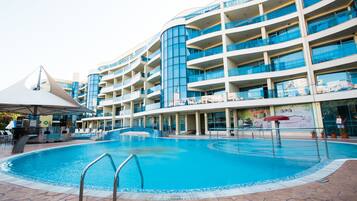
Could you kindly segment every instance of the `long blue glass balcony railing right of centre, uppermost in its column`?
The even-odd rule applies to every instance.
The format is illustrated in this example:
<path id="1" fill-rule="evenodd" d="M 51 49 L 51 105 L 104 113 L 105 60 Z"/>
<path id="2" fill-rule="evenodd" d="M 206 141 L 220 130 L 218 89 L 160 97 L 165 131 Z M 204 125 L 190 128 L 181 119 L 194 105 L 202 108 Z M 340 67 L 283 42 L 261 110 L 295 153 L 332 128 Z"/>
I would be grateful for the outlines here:
<path id="1" fill-rule="evenodd" d="M 288 14 L 293 13 L 295 11 L 296 11 L 295 4 L 291 4 L 289 6 L 280 8 L 280 9 L 278 9 L 276 11 L 270 12 L 270 13 L 265 14 L 265 15 L 259 15 L 259 16 L 248 18 L 248 19 L 244 19 L 244 20 L 228 22 L 228 23 L 226 23 L 226 28 L 227 29 L 232 29 L 232 28 L 235 28 L 235 27 L 241 27 L 241 26 L 246 26 L 246 25 L 250 25 L 250 24 L 255 24 L 255 23 L 259 23 L 259 22 L 275 19 L 275 18 L 284 16 L 284 15 L 288 15 Z"/>

